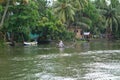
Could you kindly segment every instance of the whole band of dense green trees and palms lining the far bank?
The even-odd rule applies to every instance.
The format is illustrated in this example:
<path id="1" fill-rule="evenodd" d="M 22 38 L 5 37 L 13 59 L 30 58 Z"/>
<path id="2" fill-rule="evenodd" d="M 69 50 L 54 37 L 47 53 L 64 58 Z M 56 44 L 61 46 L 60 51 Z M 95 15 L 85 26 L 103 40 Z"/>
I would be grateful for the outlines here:
<path id="1" fill-rule="evenodd" d="M 30 40 L 30 33 L 40 39 L 70 40 L 75 36 L 70 26 L 120 37 L 119 0 L 57 0 L 52 5 L 46 0 L 7 0 L 0 4 L 0 32 L 9 33 L 11 41 Z"/>

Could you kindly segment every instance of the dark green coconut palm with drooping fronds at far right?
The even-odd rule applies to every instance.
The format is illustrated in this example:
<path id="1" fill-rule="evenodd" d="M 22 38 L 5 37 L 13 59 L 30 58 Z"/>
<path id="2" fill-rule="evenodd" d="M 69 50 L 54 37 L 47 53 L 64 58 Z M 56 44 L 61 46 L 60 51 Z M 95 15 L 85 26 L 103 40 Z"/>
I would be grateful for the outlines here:
<path id="1" fill-rule="evenodd" d="M 106 13 L 104 17 L 106 18 L 106 28 L 108 33 L 108 38 L 111 38 L 113 32 L 118 31 L 120 15 L 118 14 L 118 5 L 120 5 L 118 0 L 110 0 L 111 4 L 106 8 Z"/>

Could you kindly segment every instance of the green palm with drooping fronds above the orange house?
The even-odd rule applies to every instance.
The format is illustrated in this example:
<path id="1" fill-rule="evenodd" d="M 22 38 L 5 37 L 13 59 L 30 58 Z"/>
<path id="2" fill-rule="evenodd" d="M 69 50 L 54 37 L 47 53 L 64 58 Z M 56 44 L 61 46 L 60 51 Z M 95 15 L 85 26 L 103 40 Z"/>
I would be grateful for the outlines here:
<path id="1" fill-rule="evenodd" d="M 80 9 L 76 11 L 74 24 L 84 30 L 90 29 L 93 22 L 91 17 L 93 18 L 95 8 L 91 1 L 79 0 L 79 4 Z"/>

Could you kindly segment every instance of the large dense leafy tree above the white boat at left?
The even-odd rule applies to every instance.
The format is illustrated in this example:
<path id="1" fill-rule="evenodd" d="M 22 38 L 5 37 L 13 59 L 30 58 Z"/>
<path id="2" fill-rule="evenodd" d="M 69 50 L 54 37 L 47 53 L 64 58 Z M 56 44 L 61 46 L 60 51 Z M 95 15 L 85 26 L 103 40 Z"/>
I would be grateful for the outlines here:
<path id="1" fill-rule="evenodd" d="M 17 1 L 17 3 L 9 8 L 3 29 L 11 33 L 11 41 L 24 41 L 24 36 L 29 34 L 31 27 L 37 25 L 38 5 L 33 0 L 29 0 L 29 3 L 24 2 L 24 0 Z"/>

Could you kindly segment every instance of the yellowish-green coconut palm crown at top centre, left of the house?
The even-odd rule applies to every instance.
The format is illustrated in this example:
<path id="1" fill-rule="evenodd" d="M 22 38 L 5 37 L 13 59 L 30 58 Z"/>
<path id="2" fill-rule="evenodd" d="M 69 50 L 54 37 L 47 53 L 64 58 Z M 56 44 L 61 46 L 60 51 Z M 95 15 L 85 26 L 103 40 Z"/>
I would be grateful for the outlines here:
<path id="1" fill-rule="evenodd" d="M 69 26 L 69 21 L 74 21 L 75 7 L 71 4 L 72 0 L 58 0 L 54 2 L 53 8 L 58 19 L 62 23 L 67 23 Z"/>

